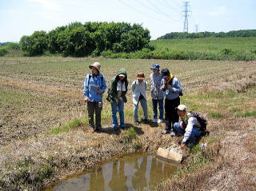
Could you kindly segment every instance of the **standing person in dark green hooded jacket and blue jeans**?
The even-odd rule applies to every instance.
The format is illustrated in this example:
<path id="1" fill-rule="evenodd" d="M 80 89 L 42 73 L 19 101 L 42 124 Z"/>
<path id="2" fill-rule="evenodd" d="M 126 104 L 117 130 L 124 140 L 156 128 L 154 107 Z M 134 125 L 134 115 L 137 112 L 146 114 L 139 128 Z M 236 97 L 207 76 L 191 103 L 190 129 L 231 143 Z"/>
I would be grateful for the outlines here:
<path id="1" fill-rule="evenodd" d="M 126 93 L 128 88 L 127 74 L 125 69 L 120 69 L 118 75 L 111 81 L 109 94 L 106 97 L 107 101 L 110 101 L 112 108 L 112 125 L 115 130 L 118 130 L 118 117 L 120 116 L 120 127 L 124 128 L 125 116 L 124 116 L 124 104 L 127 102 Z"/>

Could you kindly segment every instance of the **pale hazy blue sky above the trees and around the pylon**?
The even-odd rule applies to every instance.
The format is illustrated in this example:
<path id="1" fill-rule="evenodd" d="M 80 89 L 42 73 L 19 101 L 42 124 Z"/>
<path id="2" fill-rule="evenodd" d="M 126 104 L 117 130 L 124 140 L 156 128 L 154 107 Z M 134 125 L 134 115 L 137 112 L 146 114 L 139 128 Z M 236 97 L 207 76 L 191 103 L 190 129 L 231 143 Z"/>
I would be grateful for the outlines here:
<path id="1" fill-rule="evenodd" d="M 129 22 L 151 39 L 182 32 L 185 0 L 0 0 L 0 42 L 19 42 L 36 30 L 71 22 Z M 256 29 L 256 0 L 190 0 L 188 29 L 228 32 Z"/>

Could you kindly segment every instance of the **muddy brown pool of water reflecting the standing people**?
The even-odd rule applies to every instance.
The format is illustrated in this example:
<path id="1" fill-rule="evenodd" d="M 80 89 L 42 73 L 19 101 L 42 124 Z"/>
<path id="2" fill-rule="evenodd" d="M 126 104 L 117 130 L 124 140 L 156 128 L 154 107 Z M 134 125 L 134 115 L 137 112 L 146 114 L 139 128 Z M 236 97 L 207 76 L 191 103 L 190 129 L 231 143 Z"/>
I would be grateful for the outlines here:
<path id="1" fill-rule="evenodd" d="M 110 161 L 92 173 L 61 182 L 53 190 L 150 190 L 178 168 L 178 165 L 147 154 L 126 156 Z"/>

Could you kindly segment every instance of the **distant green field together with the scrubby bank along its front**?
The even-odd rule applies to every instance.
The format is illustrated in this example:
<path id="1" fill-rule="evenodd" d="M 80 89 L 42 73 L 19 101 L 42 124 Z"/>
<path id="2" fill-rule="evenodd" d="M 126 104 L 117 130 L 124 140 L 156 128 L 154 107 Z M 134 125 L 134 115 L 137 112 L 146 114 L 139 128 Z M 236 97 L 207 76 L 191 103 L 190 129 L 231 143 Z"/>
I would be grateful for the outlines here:
<path id="1" fill-rule="evenodd" d="M 106 58 L 146 58 L 174 60 L 256 60 L 256 38 L 195 38 L 154 40 L 154 50 L 135 53 L 102 53 Z"/>

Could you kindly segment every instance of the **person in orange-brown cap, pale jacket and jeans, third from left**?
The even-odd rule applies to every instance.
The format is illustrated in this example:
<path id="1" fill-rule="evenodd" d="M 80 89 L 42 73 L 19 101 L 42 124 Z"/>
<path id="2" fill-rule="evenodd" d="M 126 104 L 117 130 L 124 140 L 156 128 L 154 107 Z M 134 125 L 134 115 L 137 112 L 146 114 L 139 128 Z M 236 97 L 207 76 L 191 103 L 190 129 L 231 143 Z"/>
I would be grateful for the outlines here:
<path id="1" fill-rule="evenodd" d="M 138 73 L 137 80 L 132 83 L 131 90 L 133 91 L 133 103 L 134 103 L 134 122 L 139 125 L 138 121 L 138 102 L 141 102 L 144 117 L 143 121 L 147 122 L 147 104 L 146 104 L 146 87 L 147 82 L 145 82 L 145 75 L 143 73 Z"/>

